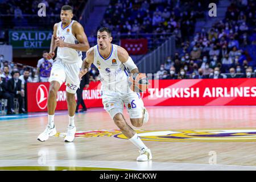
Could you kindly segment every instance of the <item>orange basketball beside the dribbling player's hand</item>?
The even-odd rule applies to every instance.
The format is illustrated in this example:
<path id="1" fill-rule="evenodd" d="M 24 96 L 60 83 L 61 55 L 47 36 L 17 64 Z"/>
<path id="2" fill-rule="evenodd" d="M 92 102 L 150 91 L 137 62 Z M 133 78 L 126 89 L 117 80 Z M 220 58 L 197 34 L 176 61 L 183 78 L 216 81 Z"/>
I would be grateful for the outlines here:
<path id="1" fill-rule="evenodd" d="M 145 73 L 130 74 L 129 86 L 133 92 L 146 92 L 148 88 L 148 79 Z"/>

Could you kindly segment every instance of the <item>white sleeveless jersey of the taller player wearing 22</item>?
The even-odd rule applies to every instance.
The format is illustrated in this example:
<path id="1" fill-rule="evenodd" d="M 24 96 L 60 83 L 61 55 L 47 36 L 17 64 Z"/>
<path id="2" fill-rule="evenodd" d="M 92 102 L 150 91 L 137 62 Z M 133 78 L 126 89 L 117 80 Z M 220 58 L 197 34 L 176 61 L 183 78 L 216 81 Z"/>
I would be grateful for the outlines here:
<path id="1" fill-rule="evenodd" d="M 72 24 L 74 22 L 76 21 L 72 20 L 65 28 L 62 28 L 63 24 L 62 22 L 59 22 L 57 26 L 57 37 L 66 43 L 79 44 L 79 41 L 72 34 Z M 61 59 L 63 63 L 77 63 L 82 61 L 82 52 L 68 47 L 58 47 L 56 59 Z"/>

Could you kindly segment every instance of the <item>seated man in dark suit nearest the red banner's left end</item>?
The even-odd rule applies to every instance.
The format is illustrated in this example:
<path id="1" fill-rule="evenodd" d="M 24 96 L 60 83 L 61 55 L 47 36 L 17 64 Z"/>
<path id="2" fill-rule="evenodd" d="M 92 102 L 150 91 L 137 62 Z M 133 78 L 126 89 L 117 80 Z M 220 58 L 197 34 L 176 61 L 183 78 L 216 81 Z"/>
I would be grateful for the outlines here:
<path id="1" fill-rule="evenodd" d="M 13 73 L 13 78 L 8 80 L 7 82 L 7 88 L 11 96 L 13 98 L 18 98 L 19 102 L 19 114 L 26 113 L 26 111 L 23 110 L 23 97 L 24 92 L 22 92 L 22 81 L 19 80 L 19 72 L 15 71 Z M 14 108 L 14 102 L 12 101 L 11 106 Z"/>

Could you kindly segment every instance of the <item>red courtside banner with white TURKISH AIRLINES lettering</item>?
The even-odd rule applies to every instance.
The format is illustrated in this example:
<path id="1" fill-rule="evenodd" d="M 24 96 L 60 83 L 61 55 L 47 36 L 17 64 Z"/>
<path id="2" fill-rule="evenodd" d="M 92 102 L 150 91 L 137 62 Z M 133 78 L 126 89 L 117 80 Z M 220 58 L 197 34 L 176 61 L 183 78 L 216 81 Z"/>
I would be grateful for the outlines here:
<path id="1" fill-rule="evenodd" d="M 150 80 L 141 93 L 145 106 L 256 105 L 256 78 Z M 82 97 L 87 107 L 103 107 L 100 81 L 90 82 Z M 47 111 L 48 82 L 28 83 L 28 111 Z M 65 85 L 57 93 L 56 110 L 67 110 Z"/>

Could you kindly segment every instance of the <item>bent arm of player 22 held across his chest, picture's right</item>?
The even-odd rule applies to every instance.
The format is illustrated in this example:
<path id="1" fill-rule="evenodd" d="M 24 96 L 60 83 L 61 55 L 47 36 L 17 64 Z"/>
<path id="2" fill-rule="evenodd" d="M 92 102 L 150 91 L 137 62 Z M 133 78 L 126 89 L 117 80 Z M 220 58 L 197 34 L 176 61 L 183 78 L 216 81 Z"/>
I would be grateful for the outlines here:
<path id="1" fill-rule="evenodd" d="M 70 44 L 66 43 L 60 38 L 57 38 L 56 44 L 58 47 L 68 47 L 76 49 L 78 51 L 88 51 L 90 48 L 87 36 L 85 35 L 84 28 L 80 23 L 75 22 L 72 24 L 72 31 L 75 34 L 76 39 L 79 41 L 79 44 Z"/>

